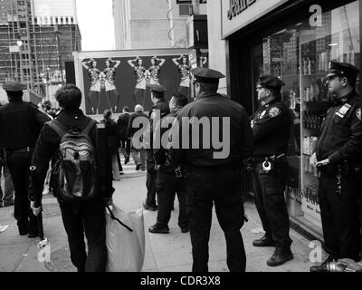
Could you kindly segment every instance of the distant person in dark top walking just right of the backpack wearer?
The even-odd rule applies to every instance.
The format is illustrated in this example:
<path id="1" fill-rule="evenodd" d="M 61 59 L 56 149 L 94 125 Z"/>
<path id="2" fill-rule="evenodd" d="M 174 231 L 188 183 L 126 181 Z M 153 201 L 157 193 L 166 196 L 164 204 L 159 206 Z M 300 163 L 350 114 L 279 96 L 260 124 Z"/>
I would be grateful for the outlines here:
<path id="1" fill-rule="evenodd" d="M 119 164 L 117 162 L 117 154 L 119 153 L 120 138 L 119 138 L 119 129 L 117 123 L 112 120 L 112 111 L 110 110 L 104 111 L 103 120 L 100 122 L 104 123 L 106 126 L 107 143 L 112 159 L 113 180 L 119 181 L 121 178 L 119 174 Z"/>

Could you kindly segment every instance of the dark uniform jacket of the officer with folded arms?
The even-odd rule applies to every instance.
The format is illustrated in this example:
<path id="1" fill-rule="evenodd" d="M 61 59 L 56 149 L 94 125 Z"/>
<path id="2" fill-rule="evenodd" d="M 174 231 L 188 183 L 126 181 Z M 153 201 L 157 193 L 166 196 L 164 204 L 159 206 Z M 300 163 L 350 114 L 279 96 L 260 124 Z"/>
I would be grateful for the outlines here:
<path id="1" fill-rule="evenodd" d="M 286 154 L 291 138 L 291 125 L 291 112 L 280 100 L 273 100 L 262 106 L 252 117 L 254 157 L 278 157 Z"/>

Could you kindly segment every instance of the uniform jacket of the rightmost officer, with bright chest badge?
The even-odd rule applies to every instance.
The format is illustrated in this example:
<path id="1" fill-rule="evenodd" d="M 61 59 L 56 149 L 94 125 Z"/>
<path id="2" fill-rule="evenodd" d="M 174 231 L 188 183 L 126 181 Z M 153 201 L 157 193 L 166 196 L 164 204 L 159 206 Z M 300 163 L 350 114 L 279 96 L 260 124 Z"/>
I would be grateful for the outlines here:
<path id="1" fill-rule="evenodd" d="M 361 101 L 357 92 L 349 93 L 344 99 L 347 101 L 329 109 L 317 144 L 318 160 L 329 159 L 330 164 L 343 160 L 361 163 Z"/>

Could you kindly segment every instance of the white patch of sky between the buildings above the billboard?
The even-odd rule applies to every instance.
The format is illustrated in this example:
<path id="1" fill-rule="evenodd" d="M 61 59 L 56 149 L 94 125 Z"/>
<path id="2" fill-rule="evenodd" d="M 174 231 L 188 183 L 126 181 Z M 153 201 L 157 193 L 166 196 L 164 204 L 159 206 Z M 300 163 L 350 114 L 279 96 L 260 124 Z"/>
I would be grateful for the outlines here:
<path id="1" fill-rule="evenodd" d="M 112 0 L 77 0 L 76 3 L 81 28 L 81 50 L 113 50 Z"/>

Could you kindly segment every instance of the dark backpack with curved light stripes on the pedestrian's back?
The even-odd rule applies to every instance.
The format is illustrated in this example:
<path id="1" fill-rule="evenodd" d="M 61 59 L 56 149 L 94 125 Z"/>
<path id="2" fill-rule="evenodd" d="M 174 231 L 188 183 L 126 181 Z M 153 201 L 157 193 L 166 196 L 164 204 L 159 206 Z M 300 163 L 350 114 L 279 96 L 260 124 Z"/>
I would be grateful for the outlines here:
<path id="1" fill-rule="evenodd" d="M 82 131 L 66 131 L 57 120 L 47 123 L 61 137 L 59 160 L 52 168 L 51 187 L 56 198 L 82 201 L 96 195 L 96 154 L 89 133 L 90 120 Z"/>

